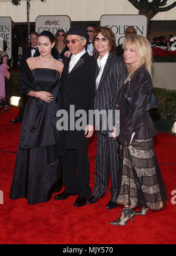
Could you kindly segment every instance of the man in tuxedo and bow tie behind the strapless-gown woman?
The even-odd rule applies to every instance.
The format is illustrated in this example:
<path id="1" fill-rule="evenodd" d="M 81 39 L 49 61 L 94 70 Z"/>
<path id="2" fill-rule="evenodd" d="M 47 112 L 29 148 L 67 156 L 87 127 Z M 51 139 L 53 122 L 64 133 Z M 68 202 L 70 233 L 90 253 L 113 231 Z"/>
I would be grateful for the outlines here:
<path id="1" fill-rule="evenodd" d="M 40 55 L 38 50 L 38 37 L 39 37 L 39 34 L 37 32 L 31 32 L 31 35 L 30 35 L 31 46 L 26 47 L 23 50 L 23 54 L 21 58 L 21 71 L 23 71 L 23 65 L 27 60 L 27 58 L 36 57 Z M 22 122 L 23 113 L 25 111 L 27 100 L 28 100 L 28 96 L 26 96 L 25 94 L 21 96 L 21 99 L 19 100 L 20 110 L 19 110 L 18 116 L 15 119 L 12 119 L 11 123 Z"/>

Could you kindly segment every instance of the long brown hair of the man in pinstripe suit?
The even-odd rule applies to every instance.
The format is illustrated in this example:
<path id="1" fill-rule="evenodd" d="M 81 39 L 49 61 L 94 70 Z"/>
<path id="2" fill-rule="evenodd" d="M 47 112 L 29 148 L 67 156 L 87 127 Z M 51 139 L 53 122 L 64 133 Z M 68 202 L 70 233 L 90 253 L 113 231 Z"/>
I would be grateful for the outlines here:
<path id="1" fill-rule="evenodd" d="M 109 45 L 110 45 L 110 54 L 117 54 L 117 50 L 116 50 L 116 37 L 113 33 L 113 31 L 111 31 L 111 29 L 109 27 L 97 27 L 94 28 L 93 34 L 92 34 L 92 44 L 94 47 L 94 38 L 97 37 L 97 35 L 101 33 L 103 35 L 103 37 L 107 38 L 107 40 L 109 41 Z M 94 48 L 94 52 L 93 55 L 95 58 L 97 58 L 99 56 L 99 52 Z"/>

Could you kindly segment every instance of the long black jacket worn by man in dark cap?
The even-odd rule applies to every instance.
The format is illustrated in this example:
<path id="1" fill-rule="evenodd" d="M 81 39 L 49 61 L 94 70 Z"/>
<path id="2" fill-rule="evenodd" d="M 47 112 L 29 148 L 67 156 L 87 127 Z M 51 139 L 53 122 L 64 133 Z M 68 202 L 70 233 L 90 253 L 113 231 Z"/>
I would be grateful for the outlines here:
<path id="1" fill-rule="evenodd" d="M 94 109 L 96 61 L 86 52 L 80 57 L 73 70 L 68 73 L 70 58 L 63 57 L 64 68 L 61 76 L 60 109 L 65 109 L 70 118 L 70 105 L 74 105 L 75 112 L 84 110 L 88 117 L 89 110 Z M 75 122 L 77 119 L 75 117 Z M 89 122 L 89 124 L 93 123 Z M 66 131 L 65 135 L 67 148 L 80 147 L 87 141 L 84 131 L 70 130 Z"/>

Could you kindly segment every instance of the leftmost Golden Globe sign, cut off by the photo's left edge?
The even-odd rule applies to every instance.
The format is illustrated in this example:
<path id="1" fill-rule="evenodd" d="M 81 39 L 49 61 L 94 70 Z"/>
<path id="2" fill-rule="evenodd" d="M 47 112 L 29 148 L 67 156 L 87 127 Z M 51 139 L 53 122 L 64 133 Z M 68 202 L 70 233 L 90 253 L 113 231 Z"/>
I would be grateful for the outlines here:
<path id="1" fill-rule="evenodd" d="M 7 50 L 9 58 L 11 58 L 12 50 L 12 19 L 11 17 L 0 17 L 0 48 L 3 50 L 3 40 L 7 43 Z"/>

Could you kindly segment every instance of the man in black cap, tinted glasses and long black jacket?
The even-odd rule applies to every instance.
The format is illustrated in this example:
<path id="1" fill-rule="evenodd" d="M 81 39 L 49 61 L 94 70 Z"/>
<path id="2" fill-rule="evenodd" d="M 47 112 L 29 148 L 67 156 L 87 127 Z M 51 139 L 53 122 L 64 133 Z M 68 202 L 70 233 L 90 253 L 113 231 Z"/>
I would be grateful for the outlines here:
<path id="1" fill-rule="evenodd" d="M 85 111 L 88 116 L 89 110 L 94 109 L 96 62 L 84 49 L 86 37 L 86 29 L 83 28 L 73 27 L 66 33 L 66 44 L 72 55 L 69 58 L 63 57 L 60 109 L 67 111 L 69 120 L 77 110 Z M 73 114 L 70 112 L 72 107 L 75 108 Z M 75 117 L 74 126 L 77 120 Z M 76 130 L 76 127 L 72 130 L 69 124 L 69 129 L 63 131 L 66 150 L 61 162 L 65 191 L 56 195 L 56 200 L 79 194 L 74 206 L 83 206 L 91 194 L 87 146 L 89 137 L 93 134 L 92 122 L 84 123 L 82 130 Z"/>

